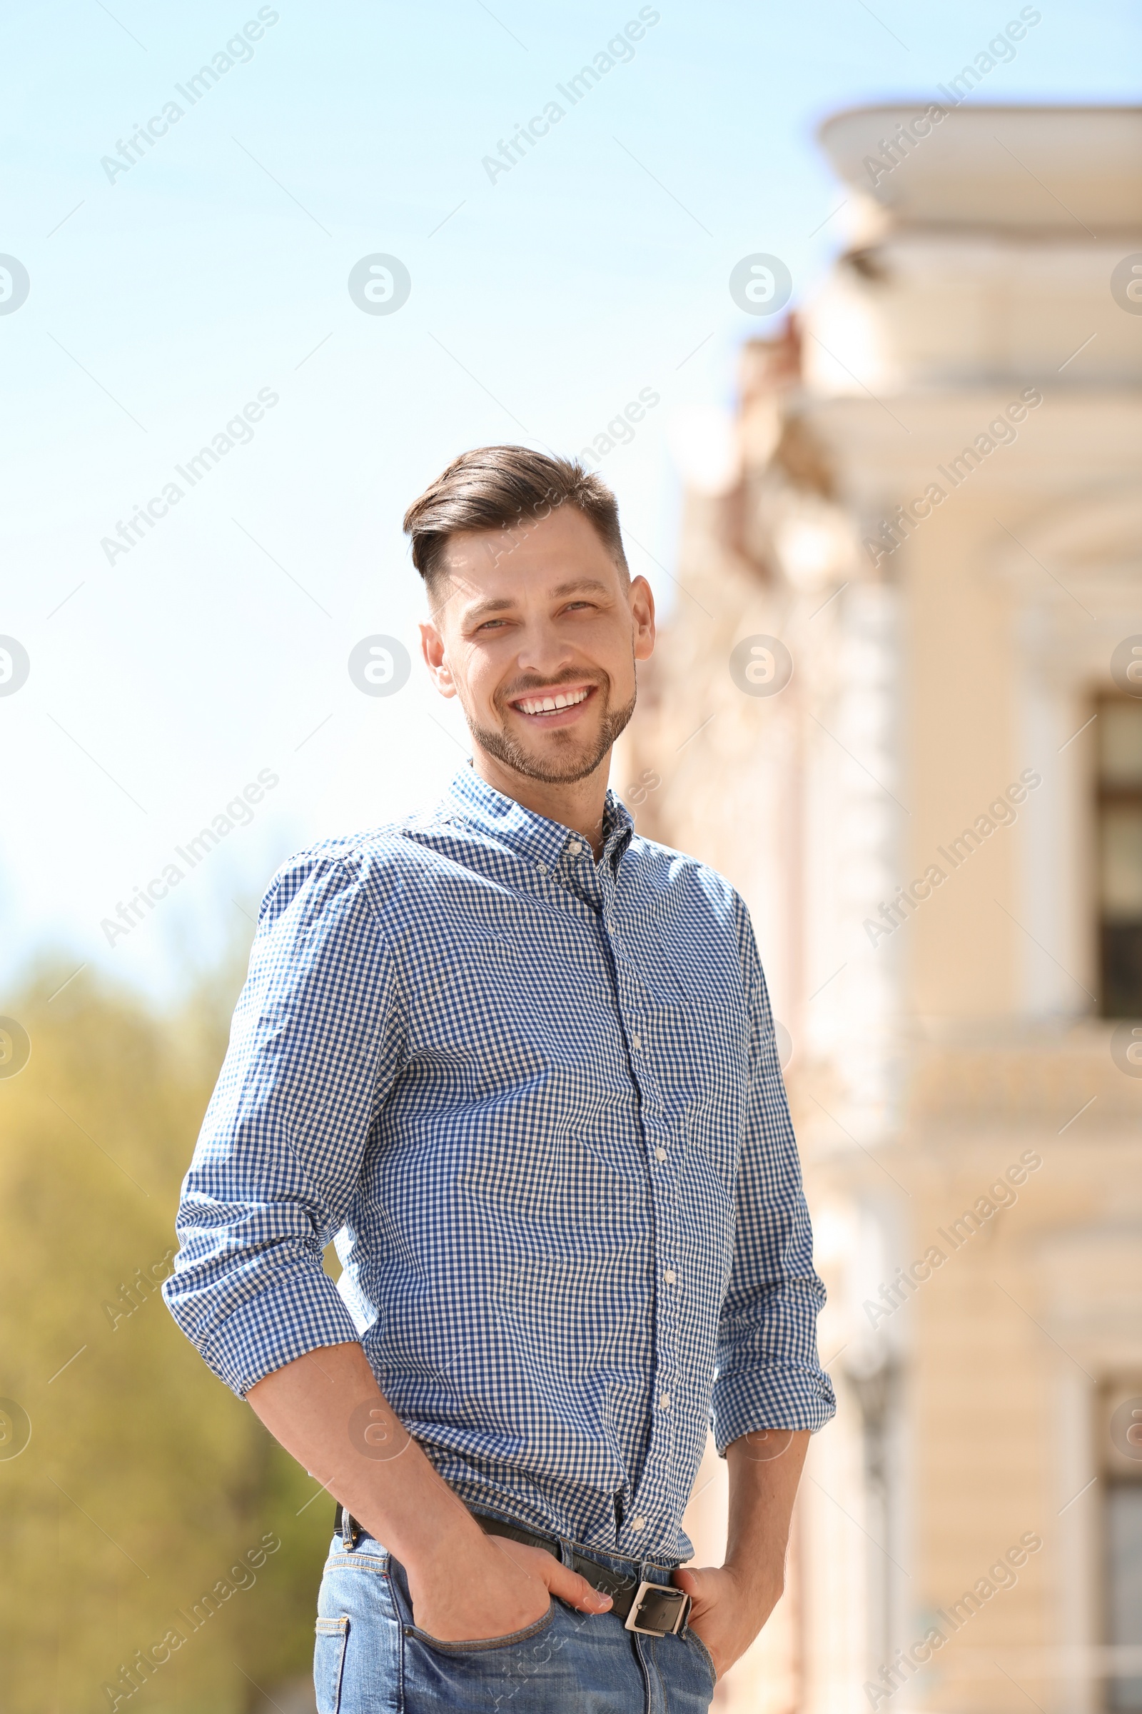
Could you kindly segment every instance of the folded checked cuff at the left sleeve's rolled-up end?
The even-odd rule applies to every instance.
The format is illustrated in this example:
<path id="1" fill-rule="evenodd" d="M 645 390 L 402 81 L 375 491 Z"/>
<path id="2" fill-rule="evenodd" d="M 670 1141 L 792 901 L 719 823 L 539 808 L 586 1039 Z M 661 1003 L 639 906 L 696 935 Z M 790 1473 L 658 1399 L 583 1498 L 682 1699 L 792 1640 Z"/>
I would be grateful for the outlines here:
<path id="1" fill-rule="evenodd" d="M 192 1342 L 241 1399 L 255 1381 L 283 1369 L 306 1351 L 349 1345 L 361 1335 L 341 1292 L 322 1270 L 291 1274 L 257 1292 Z"/>

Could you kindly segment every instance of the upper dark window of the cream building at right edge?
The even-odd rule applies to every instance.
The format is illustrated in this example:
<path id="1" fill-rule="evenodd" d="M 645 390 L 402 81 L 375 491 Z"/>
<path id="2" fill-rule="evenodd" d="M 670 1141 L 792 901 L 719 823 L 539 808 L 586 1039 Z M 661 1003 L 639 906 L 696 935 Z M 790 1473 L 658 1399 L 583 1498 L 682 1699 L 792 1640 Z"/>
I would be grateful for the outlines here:
<path id="1" fill-rule="evenodd" d="M 1142 701 L 1104 698 L 1094 732 L 1103 1016 L 1142 1018 Z"/>

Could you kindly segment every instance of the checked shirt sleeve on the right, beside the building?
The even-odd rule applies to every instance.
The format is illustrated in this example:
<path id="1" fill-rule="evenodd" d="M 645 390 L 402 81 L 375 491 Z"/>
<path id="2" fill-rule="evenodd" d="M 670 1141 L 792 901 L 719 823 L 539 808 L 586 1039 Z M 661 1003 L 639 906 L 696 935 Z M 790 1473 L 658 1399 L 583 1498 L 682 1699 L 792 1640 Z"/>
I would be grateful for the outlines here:
<path id="1" fill-rule="evenodd" d="M 822 1428 L 836 1412 L 817 1359 L 825 1287 L 801 1190 L 774 1020 L 753 929 L 740 905 L 750 1071 L 738 1167 L 736 1243 L 717 1327 L 712 1429 L 719 1453 L 765 1428 Z"/>

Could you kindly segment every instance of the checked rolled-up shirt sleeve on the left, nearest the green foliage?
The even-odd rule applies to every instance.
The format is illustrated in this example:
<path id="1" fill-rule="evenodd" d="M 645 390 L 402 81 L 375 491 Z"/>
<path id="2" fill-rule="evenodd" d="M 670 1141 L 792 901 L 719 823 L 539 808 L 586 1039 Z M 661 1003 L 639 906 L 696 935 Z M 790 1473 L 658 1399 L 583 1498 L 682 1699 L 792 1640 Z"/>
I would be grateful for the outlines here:
<path id="1" fill-rule="evenodd" d="M 365 883 L 346 859 L 283 869 L 178 1208 L 171 1315 L 236 1393 L 358 1339 L 322 1268 L 401 1064 L 402 1008 Z"/>

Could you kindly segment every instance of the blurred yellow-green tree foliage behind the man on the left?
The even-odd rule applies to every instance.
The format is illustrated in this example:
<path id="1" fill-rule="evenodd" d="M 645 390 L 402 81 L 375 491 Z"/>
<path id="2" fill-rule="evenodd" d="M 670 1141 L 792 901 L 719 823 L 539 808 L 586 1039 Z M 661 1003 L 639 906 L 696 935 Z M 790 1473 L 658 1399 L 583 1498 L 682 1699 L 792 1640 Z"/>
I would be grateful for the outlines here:
<path id="1" fill-rule="evenodd" d="M 0 1709 L 245 1714 L 310 1668 L 332 1500 L 159 1297 L 236 972 L 170 1016 L 67 974 L 3 1008 Z M 137 1651 L 170 1659 L 128 1695 Z"/>

